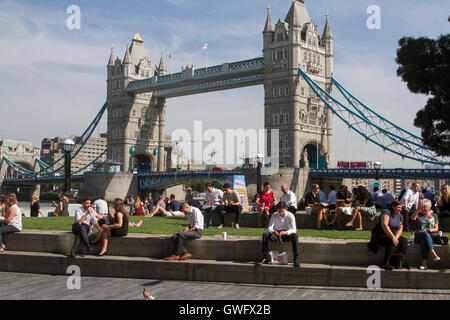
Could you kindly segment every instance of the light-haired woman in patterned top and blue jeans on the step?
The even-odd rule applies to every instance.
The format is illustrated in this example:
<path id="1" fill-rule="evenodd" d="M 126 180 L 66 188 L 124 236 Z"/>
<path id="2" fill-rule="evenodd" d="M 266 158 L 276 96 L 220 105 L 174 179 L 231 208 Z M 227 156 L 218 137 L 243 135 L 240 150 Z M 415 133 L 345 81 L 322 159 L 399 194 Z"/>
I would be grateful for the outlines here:
<path id="1" fill-rule="evenodd" d="M 439 231 L 439 218 L 431 211 L 431 201 L 423 199 L 420 202 L 419 210 L 411 215 L 411 221 L 417 221 L 416 232 L 414 233 L 414 243 L 420 244 L 422 251 L 422 265 L 420 270 L 428 269 L 428 254 L 431 252 L 433 261 L 439 261 L 441 258 L 436 254 L 433 246 L 433 232 Z"/>

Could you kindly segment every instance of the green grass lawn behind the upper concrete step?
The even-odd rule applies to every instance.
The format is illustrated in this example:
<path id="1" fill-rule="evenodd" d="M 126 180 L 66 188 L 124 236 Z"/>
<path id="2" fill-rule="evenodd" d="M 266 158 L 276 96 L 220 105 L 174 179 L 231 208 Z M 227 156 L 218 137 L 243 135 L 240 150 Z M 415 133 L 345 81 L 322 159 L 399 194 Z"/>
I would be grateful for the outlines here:
<path id="1" fill-rule="evenodd" d="M 129 233 L 143 233 L 143 234 L 174 234 L 183 230 L 187 226 L 186 218 L 167 218 L 167 217 L 131 217 L 132 222 L 143 221 L 139 228 L 130 227 Z M 73 224 L 73 217 L 58 217 L 58 218 L 23 218 L 23 228 L 28 230 L 60 230 L 71 231 Z M 223 228 L 217 227 L 206 228 L 203 231 L 203 236 L 221 235 L 222 232 L 227 232 L 229 236 L 247 236 L 260 237 L 266 228 Z M 339 231 L 339 230 L 298 230 L 299 237 L 314 237 L 314 238 L 329 238 L 329 239 L 370 239 L 370 230 L 367 231 Z M 409 239 L 410 233 L 404 233 L 404 237 Z"/>

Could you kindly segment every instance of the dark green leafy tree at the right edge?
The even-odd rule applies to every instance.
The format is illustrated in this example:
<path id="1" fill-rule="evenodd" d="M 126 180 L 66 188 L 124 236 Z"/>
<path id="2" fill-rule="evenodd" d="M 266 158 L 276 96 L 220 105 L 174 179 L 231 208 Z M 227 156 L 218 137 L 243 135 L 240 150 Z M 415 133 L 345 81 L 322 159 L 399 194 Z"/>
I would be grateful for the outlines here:
<path id="1" fill-rule="evenodd" d="M 430 95 L 414 125 L 438 156 L 450 155 L 450 34 L 399 40 L 397 74 L 413 93 Z"/>

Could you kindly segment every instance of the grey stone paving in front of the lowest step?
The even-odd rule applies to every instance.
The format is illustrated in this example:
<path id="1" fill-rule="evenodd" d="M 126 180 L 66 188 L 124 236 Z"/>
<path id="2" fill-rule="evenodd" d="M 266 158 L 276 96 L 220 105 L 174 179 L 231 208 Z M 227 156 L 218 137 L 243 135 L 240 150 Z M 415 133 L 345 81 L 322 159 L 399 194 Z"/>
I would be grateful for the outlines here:
<path id="1" fill-rule="evenodd" d="M 67 289 L 68 276 L 0 272 L 0 300 L 450 300 L 450 290 L 408 290 L 82 277 L 80 290 Z"/>

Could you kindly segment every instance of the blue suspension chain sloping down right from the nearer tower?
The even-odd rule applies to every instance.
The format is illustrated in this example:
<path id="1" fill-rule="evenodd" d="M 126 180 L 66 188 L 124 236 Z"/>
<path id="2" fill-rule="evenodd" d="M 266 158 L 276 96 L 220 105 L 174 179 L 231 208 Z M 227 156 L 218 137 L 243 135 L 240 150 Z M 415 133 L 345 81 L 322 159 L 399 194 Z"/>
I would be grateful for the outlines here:
<path id="1" fill-rule="evenodd" d="M 366 107 L 366 109 L 360 110 L 353 101 L 350 102 L 346 99 L 347 102 L 350 103 L 351 108 L 355 110 L 353 111 L 351 108 L 339 102 L 336 98 L 322 89 L 303 71 L 300 66 L 298 67 L 298 71 L 314 91 L 316 96 L 320 100 L 322 100 L 322 102 L 324 102 L 325 105 L 330 108 L 330 110 L 334 114 L 336 114 L 347 126 L 349 126 L 353 131 L 357 132 L 366 140 L 374 143 L 384 150 L 401 156 L 403 159 L 407 158 L 414 161 L 419 161 L 422 164 L 429 163 L 437 165 L 450 165 L 450 162 L 443 162 L 438 160 L 429 148 L 424 147 L 421 143 L 418 143 L 417 136 L 407 136 L 406 130 L 403 130 L 398 126 L 395 126 L 391 122 L 388 122 L 388 120 L 382 118 L 373 111 L 369 114 L 368 110 L 371 109 L 369 109 L 368 107 Z M 343 87 L 340 88 L 342 89 L 342 92 L 348 92 L 344 91 Z M 376 119 L 376 116 L 382 119 L 378 120 Z M 387 128 L 386 126 L 381 126 L 380 122 L 389 123 L 391 126 L 395 126 L 395 128 L 398 127 L 398 134 L 397 132 L 393 132 L 393 130 L 388 130 L 389 128 Z M 386 138 L 385 140 L 387 140 L 386 144 L 384 143 L 384 138 Z"/>

